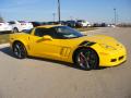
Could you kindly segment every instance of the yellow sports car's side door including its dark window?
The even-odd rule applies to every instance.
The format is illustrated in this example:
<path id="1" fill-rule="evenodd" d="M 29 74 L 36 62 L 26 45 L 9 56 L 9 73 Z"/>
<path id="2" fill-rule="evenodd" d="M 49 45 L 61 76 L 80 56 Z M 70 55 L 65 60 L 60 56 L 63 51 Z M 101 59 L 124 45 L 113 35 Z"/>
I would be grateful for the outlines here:
<path id="1" fill-rule="evenodd" d="M 52 39 L 46 40 L 43 36 L 50 36 Z M 36 28 L 34 35 L 29 37 L 32 53 L 37 57 L 60 59 L 60 40 L 53 38 L 55 30 L 51 28 Z"/>

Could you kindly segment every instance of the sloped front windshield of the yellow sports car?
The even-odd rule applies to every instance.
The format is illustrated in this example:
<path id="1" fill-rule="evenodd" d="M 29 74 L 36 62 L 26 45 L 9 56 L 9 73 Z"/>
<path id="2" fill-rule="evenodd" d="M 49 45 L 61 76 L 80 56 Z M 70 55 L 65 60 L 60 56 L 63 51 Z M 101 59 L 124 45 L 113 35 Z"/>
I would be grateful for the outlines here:
<path id="1" fill-rule="evenodd" d="M 78 37 L 82 37 L 83 35 L 81 33 L 79 33 L 78 30 L 68 27 L 68 26 L 59 26 L 57 27 L 57 36 L 59 38 L 78 38 Z"/>

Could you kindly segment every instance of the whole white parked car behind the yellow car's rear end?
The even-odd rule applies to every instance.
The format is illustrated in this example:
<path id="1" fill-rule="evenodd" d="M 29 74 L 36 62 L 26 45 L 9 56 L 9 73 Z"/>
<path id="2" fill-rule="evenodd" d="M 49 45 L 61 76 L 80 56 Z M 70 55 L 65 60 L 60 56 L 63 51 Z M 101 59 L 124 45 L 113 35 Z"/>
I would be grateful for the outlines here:
<path id="1" fill-rule="evenodd" d="M 13 33 L 33 28 L 33 24 L 31 22 L 26 22 L 26 21 L 11 21 L 9 23 L 13 28 Z"/>

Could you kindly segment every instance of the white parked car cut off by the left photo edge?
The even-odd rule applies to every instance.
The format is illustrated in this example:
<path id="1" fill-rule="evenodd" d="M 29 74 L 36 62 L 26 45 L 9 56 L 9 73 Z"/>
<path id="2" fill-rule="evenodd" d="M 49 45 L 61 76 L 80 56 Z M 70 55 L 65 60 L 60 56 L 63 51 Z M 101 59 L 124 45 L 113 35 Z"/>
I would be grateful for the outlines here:
<path id="1" fill-rule="evenodd" d="M 8 22 L 0 22 L 0 32 L 12 32 L 12 26 Z"/>

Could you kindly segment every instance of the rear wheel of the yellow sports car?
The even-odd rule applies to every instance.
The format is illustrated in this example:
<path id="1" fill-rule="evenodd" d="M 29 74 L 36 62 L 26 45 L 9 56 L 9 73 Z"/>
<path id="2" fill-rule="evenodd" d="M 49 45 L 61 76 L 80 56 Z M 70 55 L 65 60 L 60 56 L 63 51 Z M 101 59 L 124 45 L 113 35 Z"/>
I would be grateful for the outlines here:
<path id="1" fill-rule="evenodd" d="M 21 42 L 15 42 L 13 45 L 13 53 L 17 59 L 25 59 L 27 57 L 26 49 Z"/>

